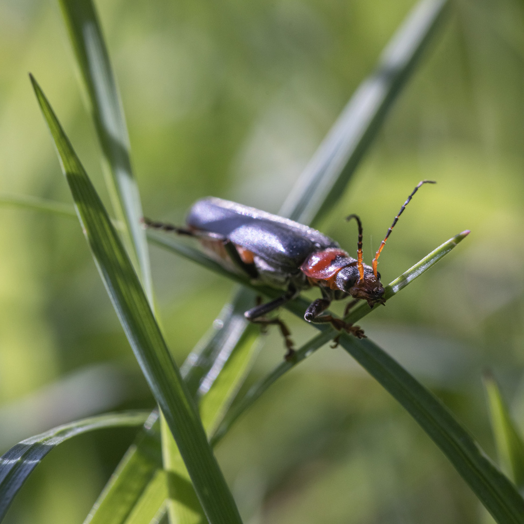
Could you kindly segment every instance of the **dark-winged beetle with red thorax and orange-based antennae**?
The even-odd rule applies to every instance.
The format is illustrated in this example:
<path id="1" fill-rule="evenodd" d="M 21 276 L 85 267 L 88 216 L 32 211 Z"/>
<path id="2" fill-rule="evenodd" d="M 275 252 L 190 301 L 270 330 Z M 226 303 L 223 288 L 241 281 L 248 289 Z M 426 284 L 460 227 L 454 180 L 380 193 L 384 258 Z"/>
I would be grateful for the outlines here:
<path id="1" fill-rule="evenodd" d="M 338 331 L 344 330 L 358 338 L 365 337 L 364 331 L 358 326 L 322 313 L 333 300 L 348 296 L 354 300 L 347 304 L 344 316 L 358 300 L 366 300 L 370 308 L 375 304 L 385 303 L 384 287 L 377 271 L 378 257 L 399 216 L 425 183 L 435 182 L 422 180 L 417 184 L 388 228 L 371 266 L 363 263 L 362 222 L 354 214 L 346 220 L 355 219 L 358 225 L 356 259 L 341 249 L 332 238 L 311 227 L 215 197 L 204 198 L 193 204 L 186 217 L 186 227 L 145 218 L 144 224 L 147 227 L 196 237 L 204 248 L 211 250 L 222 260 L 230 261 L 250 278 L 284 289 L 280 297 L 257 304 L 246 311 L 244 316 L 263 325 L 279 325 L 287 347 L 285 358 L 289 360 L 294 350 L 286 324 L 279 318 L 268 319 L 266 315 L 312 286 L 320 288 L 322 298 L 309 305 L 304 314 L 305 320 L 331 323 Z"/>

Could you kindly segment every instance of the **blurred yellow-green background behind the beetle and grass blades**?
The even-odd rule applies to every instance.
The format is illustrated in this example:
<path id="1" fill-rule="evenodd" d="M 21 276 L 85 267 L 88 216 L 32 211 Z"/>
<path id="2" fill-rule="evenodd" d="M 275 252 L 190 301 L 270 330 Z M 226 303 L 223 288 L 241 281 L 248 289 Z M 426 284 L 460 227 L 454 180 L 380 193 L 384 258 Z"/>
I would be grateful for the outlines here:
<path id="1" fill-rule="evenodd" d="M 146 215 L 182 223 L 216 195 L 277 212 L 411 1 L 97 2 Z M 0 196 L 69 203 L 27 73 L 38 79 L 97 189 L 100 151 L 58 5 L 0 0 Z M 524 2 L 457 0 L 339 205 L 321 224 L 389 282 L 472 234 L 362 322 L 495 457 L 481 375 L 524 423 Z M 76 219 L 0 205 L 0 447 L 89 414 L 152 408 Z M 151 247 L 163 328 L 179 364 L 230 282 Z M 311 293 L 311 297 L 315 293 Z M 335 311 L 341 311 L 338 304 Z M 283 313 L 297 342 L 314 330 Z M 250 381 L 284 353 L 270 332 Z M 82 522 L 133 439 L 103 431 L 39 466 L 9 523 Z M 217 456 L 246 524 L 487 522 L 441 452 L 338 348 L 279 381 Z"/>

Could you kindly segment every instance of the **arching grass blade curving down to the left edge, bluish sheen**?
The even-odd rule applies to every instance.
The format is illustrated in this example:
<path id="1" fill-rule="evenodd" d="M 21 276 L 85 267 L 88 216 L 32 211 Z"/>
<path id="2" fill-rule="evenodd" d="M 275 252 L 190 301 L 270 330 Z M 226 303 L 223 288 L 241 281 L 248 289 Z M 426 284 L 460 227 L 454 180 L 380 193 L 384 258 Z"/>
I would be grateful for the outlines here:
<path id="1" fill-rule="evenodd" d="M 21 441 L 0 457 L 0 520 L 27 477 L 54 447 L 88 431 L 141 425 L 149 413 L 109 413 L 64 424 Z"/>

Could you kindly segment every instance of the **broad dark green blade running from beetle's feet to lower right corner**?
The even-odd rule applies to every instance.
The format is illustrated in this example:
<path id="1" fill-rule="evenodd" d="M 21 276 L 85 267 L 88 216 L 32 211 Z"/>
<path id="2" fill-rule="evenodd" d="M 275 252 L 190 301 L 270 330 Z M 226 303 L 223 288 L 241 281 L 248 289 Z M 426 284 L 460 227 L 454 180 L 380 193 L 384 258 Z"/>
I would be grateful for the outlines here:
<path id="1" fill-rule="evenodd" d="M 524 522 L 524 499 L 515 486 L 438 398 L 369 339 L 342 335 L 340 343 L 440 447 L 499 524 Z"/>

